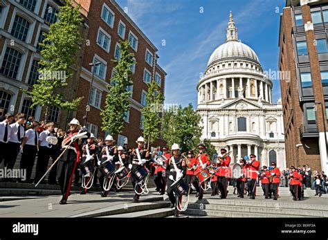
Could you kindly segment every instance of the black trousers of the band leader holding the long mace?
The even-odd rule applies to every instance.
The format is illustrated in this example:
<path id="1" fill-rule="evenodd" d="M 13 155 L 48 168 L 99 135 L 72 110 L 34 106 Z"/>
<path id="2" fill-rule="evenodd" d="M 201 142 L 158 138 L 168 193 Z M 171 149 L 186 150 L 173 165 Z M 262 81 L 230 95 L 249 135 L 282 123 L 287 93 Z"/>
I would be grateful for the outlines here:
<path id="1" fill-rule="evenodd" d="M 60 160 L 57 168 L 57 178 L 60 183 L 60 190 L 62 191 L 62 199 L 67 200 L 69 198 L 69 191 L 71 190 L 71 184 L 77 160 Z"/>

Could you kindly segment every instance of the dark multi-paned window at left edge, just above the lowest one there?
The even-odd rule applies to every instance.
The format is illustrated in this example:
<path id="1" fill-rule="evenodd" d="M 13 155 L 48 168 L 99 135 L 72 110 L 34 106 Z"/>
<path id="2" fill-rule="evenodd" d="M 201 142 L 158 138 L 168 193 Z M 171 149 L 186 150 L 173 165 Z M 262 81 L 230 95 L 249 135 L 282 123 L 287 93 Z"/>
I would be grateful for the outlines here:
<path id="1" fill-rule="evenodd" d="M 7 77 L 16 79 L 20 63 L 21 53 L 14 48 L 7 48 L 5 56 L 3 57 L 0 73 Z"/>

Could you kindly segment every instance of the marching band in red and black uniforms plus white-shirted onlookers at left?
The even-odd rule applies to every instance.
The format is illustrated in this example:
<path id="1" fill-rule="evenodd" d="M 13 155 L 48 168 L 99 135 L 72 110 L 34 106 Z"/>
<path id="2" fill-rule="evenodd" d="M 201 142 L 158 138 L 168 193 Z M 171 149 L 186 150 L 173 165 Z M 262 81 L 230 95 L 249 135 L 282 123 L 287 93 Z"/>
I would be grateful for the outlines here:
<path id="1" fill-rule="evenodd" d="M 197 154 L 190 149 L 187 154 L 181 153 L 179 145 L 174 143 L 171 147 L 163 147 L 163 152 L 156 149 L 150 153 L 145 149 L 145 139 L 140 136 L 137 140 L 136 149 L 127 149 L 125 146 L 116 146 L 113 136 L 106 136 L 103 143 L 97 143 L 93 133 L 89 133 L 80 122 L 73 118 L 69 124 L 69 132 L 62 141 L 62 152 L 53 165 L 46 172 L 50 148 L 55 145 L 57 138 L 53 136 L 53 123 L 46 124 L 46 131 L 37 134 L 39 122 L 33 122 L 32 127 L 24 134 L 21 129 L 20 120 L 22 116 L 15 116 L 17 124 L 12 126 L 13 131 L 8 131 L 8 125 L 14 116 L 7 114 L 6 120 L 0 122 L 0 147 L 3 149 L 6 144 L 12 149 L 12 156 L 0 156 L 9 167 L 15 163 L 14 158 L 18 154 L 19 142 L 21 140 L 21 167 L 28 169 L 28 176 L 31 174 L 31 166 L 25 158 L 33 156 L 38 151 L 37 185 L 44 181 L 44 177 L 57 163 L 57 179 L 62 191 L 60 204 L 66 204 L 70 195 L 73 176 L 82 176 L 82 191 L 86 194 L 99 181 L 102 190 L 100 196 L 106 197 L 113 187 L 118 192 L 127 185 L 131 179 L 134 187 L 134 203 L 138 203 L 140 195 L 148 194 L 147 183 L 149 176 L 153 174 L 156 191 L 163 195 L 167 193 L 174 207 L 174 215 L 179 216 L 188 207 L 189 196 L 195 190 L 196 197 L 201 200 L 209 188 L 212 189 L 211 196 L 220 194 L 220 199 L 226 199 L 228 195 L 228 183 L 235 181 L 237 187 L 237 197 L 244 198 L 248 192 L 250 199 L 255 199 L 257 180 L 261 181 L 265 199 L 277 201 L 279 196 L 280 170 L 276 164 L 271 163 L 270 167 L 263 166 L 259 171 L 260 163 L 254 154 L 244 156 L 238 163 L 231 163 L 230 152 L 220 149 L 219 156 L 213 155 L 212 159 L 206 153 L 206 146 L 198 145 Z M 23 132 L 23 133 L 21 133 Z M 19 139 L 21 138 L 21 139 Z M 17 150 L 18 149 L 18 150 Z M 9 155 L 9 156 L 8 156 Z M 15 155 L 15 156 L 14 156 Z M 34 162 L 33 162 L 34 163 Z M 55 167 L 54 167 L 55 168 Z M 290 192 L 293 200 L 302 199 L 302 174 L 298 169 L 291 167 Z M 41 176 L 41 174 L 44 176 Z M 76 173 L 79 173 L 76 176 Z M 235 192 L 234 192 L 235 194 Z M 183 196 L 187 197 L 184 207 L 182 206 Z"/>

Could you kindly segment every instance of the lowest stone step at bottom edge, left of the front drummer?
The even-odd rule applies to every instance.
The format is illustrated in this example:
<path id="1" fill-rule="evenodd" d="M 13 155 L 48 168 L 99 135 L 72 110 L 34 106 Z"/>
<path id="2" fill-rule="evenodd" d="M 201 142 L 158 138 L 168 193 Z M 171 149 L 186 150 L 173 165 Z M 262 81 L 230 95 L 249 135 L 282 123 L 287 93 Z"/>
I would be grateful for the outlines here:
<path id="1" fill-rule="evenodd" d="M 140 212 L 129 212 L 125 214 L 115 214 L 109 216 L 100 216 L 100 218 L 162 218 L 167 216 L 172 216 L 174 214 L 174 209 L 172 208 L 159 208 L 154 210 L 143 210 Z"/>

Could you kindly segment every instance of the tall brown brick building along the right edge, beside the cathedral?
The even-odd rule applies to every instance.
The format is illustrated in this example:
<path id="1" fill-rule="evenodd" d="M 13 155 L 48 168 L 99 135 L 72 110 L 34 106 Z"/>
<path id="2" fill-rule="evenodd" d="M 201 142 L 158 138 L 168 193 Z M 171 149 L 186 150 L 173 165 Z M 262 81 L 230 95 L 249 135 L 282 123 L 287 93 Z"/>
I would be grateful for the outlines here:
<path id="1" fill-rule="evenodd" d="M 286 1 L 279 68 L 287 166 L 328 171 L 328 1 Z M 326 133 L 326 134 L 325 134 Z"/>

